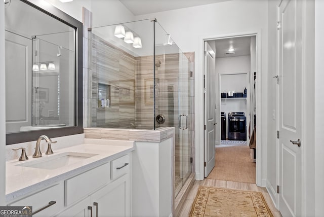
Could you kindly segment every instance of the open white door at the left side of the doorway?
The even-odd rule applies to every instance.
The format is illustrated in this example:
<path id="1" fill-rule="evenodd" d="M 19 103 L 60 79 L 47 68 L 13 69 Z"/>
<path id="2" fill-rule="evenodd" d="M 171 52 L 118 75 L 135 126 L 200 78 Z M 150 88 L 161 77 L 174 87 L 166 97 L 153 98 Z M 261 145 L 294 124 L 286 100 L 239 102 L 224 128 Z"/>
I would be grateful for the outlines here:
<path id="1" fill-rule="evenodd" d="M 214 46 L 215 47 L 215 46 Z M 205 177 L 215 166 L 215 51 L 205 42 Z"/>

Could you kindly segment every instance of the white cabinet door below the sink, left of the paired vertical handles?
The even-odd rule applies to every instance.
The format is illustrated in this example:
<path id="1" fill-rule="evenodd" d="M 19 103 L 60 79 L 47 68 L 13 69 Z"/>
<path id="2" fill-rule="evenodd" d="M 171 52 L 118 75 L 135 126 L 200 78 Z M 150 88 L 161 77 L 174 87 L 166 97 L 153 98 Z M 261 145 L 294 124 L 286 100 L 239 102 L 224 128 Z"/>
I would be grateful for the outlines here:
<path id="1" fill-rule="evenodd" d="M 91 209 L 88 209 L 88 206 L 91 205 L 90 197 L 76 203 L 75 205 L 70 206 L 68 209 L 59 213 L 57 216 L 61 217 L 89 217 L 91 215 Z M 93 206 L 90 206 L 93 209 Z"/>

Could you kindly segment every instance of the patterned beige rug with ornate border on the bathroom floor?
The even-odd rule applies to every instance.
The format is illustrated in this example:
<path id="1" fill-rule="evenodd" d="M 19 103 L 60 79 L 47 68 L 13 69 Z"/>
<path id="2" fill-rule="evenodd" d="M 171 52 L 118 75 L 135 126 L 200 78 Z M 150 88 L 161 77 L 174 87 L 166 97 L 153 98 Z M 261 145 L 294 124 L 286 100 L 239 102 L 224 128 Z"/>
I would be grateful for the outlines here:
<path id="1" fill-rule="evenodd" d="M 273 217 L 273 214 L 261 192 L 199 186 L 189 216 Z"/>

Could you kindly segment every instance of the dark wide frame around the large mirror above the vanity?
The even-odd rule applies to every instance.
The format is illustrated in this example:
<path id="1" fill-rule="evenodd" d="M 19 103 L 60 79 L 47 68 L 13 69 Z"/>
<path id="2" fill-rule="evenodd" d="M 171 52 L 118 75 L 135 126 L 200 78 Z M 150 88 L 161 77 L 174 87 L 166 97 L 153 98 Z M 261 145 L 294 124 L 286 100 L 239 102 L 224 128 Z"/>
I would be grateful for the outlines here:
<path id="1" fill-rule="evenodd" d="M 37 140 L 41 135 L 50 138 L 83 133 L 83 24 L 51 4 L 44 4 L 42 0 L 30 3 L 27 0 L 21 2 L 42 11 L 75 29 L 75 91 L 74 91 L 74 120 L 75 126 L 46 130 L 6 133 L 6 145 Z M 31 69 L 30 69 L 31 70 Z"/>

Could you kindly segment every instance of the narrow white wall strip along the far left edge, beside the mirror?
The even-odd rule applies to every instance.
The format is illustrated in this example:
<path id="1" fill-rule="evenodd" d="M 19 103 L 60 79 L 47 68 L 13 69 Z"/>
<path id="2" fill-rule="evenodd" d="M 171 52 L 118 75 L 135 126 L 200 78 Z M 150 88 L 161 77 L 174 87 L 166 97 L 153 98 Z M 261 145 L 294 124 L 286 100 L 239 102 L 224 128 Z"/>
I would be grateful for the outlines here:
<path id="1" fill-rule="evenodd" d="M 0 29 L 5 29 L 4 4 L 0 4 Z M 0 31 L 0 71 L 5 71 L 5 31 Z M 5 73 L 0 73 L 0 206 L 6 205 L 6 79 Z"/>

